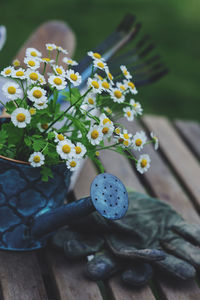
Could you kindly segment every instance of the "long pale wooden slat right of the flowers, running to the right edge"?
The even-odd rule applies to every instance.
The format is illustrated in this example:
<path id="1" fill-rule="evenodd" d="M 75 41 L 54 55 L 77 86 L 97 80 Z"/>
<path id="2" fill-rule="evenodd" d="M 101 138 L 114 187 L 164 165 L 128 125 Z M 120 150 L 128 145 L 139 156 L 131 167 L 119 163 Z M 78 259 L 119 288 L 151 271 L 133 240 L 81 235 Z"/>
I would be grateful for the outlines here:
<path id="1" fill-rule="evenodd" d="M 189 191 L 196 205 L 200 206 L 200 164 L 198 160 L 185 146 L 166 118 L 145 116 L 143 121 L 150 131 L 156 132 L 162 152 Z"/>

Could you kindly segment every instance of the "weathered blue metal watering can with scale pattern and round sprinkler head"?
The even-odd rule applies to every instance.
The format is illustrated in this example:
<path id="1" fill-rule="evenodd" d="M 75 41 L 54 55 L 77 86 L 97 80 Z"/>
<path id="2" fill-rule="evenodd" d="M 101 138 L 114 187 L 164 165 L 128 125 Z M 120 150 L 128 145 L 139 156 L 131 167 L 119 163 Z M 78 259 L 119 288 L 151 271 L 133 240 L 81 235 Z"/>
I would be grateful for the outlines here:
<path id="1" fill-rule="evenodd" d="M 0 249 L 41 248 L 56 229 L 94 210 L 108 219 L 126 213 L 127 191 L 114 175 L 98 175 L 89 197 L 64 205 L 71 172 L 65 164 L 52 172 L 54 178 L 42 182 L 40 168 L 0 156 Z"/>

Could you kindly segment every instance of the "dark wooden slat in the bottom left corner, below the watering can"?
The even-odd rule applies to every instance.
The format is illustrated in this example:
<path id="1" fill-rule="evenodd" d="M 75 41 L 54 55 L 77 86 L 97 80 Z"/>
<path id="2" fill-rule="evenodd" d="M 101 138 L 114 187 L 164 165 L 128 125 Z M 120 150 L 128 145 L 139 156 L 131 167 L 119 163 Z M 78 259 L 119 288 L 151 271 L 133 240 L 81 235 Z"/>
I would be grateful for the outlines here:
<path id="1" fill-rule="evenodd" d="M 34 253 L 0 252 L 3 300 L 48 300 Z"/>

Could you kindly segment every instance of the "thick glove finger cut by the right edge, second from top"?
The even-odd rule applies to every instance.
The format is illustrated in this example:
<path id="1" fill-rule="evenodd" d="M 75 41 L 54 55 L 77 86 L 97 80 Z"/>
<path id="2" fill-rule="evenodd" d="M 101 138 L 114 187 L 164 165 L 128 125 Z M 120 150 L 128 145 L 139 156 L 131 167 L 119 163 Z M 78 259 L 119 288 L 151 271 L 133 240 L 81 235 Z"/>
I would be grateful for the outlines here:
<path id="1" fill-rule="evenodd" d="M 166 235 L 165 240 L 160 242 L 165 250 L 196 267 L 200 267 L 200 249 L 198 247 L 195 247 L 176 234 Z"/>

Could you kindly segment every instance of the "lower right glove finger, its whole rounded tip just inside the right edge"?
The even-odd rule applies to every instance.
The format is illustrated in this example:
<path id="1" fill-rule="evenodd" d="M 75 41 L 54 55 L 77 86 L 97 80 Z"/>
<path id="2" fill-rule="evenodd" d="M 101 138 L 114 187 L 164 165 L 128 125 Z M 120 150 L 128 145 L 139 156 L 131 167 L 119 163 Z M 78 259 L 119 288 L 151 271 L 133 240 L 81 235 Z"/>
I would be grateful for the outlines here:
<path id="1" fill-rule="evenodd" d="M 179 279 L 191 279 L 196 275 L 196 270 L 191 264 L 167 253 L 165 259 L 156 261 L 153 265 Z"/>

